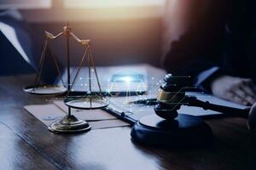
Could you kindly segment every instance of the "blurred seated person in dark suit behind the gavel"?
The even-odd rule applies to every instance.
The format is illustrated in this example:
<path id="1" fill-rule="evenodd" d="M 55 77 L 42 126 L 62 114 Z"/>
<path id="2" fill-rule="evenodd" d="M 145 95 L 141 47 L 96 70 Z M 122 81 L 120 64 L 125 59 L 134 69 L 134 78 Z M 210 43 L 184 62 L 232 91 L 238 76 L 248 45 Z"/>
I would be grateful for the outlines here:
<path id="1" fill-rule="evenodd" d="M 242 105 L 256 102 L 256 2 L 170 1 L 169 73 L 188 75 L 191 85 Z M 170 39 L 171 37 L 171 39 Z"/>

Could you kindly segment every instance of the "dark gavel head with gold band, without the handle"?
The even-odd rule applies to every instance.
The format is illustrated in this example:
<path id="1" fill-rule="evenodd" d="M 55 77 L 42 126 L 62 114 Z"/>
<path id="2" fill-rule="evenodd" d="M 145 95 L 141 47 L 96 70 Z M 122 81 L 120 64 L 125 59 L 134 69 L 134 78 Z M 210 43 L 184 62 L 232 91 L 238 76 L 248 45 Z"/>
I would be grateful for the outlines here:
<path id="1" fill-rule="evenodd" d="M 177 117 L 177 110 L 183 105 L 185 91 L 191 84 L 190 77 L 177 77 L 167 74 L 160 85 L 158 104 L 154 105 L 157 116 L 172 121 Z"/>

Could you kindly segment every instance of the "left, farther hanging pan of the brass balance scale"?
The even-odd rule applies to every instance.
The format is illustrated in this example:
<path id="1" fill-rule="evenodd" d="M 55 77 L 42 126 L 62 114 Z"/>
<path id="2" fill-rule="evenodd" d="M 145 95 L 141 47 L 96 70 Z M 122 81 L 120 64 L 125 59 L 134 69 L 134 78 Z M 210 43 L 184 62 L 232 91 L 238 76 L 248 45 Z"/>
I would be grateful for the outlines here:
<path id="1" fill-rule="evenodd" d="M 59 95 L 67 92 L 67 88 L 63 85 L 42 85 L 42 86 L 27 86 L 23 88 L 26 94 L 34 94 L 34 95 L 43 95 L 43 96 L 51 96 L 51 95 Z"/>

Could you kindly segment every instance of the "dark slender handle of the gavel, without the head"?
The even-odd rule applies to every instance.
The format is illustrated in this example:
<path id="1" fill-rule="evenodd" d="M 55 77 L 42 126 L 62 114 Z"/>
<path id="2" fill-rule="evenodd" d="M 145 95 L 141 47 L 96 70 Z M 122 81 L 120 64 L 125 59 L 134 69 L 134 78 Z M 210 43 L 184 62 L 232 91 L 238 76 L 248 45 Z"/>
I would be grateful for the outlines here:
<path id="1" fill-rule="evenodd" d="M 233 107 L 229 107 L 229 106 L 224 106 L 224 105 L 215 105 L 215 104 L 211 104 L 209 101 L 201 101 L 199 99 L 196 99 L 196 97 L 192 97 L 192 96 L 186 96 L 185 98 L 186 103 L 185 105 L 189 105 L 189 106 L 197 106 L 197 107 L 201 107 L 204 110 L 212 110 L 212 111 L 218 111 L 218 112 L 222 112 L 224 114 L 229 114 L 232 116 L 241 116 L 244 118 L 247 118 L 248 113 L 249 113 L 249 109 L 238 109 L 238 108 L 233 108 Z"/>

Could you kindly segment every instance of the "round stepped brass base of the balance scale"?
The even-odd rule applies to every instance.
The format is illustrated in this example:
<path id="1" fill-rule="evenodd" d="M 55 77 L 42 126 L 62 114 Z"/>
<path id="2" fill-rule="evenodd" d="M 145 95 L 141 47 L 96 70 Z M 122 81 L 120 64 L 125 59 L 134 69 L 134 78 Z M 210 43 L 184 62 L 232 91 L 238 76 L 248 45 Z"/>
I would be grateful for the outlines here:
<path id="1" fill-rule="evenodd" d="M 90 124 L 75 116 L 65 116 L 61 121 L 52 123 L 48 129 L 52 133 L 79 133 L 90 130 Z"/>

